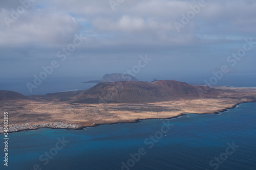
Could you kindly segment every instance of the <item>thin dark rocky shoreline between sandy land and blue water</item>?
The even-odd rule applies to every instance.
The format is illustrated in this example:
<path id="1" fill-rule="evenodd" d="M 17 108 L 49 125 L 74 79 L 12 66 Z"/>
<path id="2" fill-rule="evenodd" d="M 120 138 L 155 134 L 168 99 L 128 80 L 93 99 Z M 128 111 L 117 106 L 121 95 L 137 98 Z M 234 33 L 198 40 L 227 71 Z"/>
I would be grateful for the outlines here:
<path id="1" fill-rule="evenodd" d="M 76 128 L 60 128 L 60 127 L 35 127 L 35 128 L 28 128 L 28 129 L 18 129 L 16 131 L 8 131 L 8 133 L 14 133 L 14 132 L 21 132 L 21 131 L 30 131 L 30 130 L 38 130 L 41 128 L 48 128 L 48 129 L 66 129 L 66 130 L 82 130 L 84 128 L 89 128 L 89 127 L 97 127 L 100 125 L 113 125 L 113 124 L 127 124 L 127 123 L 140 123 L 141 120 L 146 120 L 146 119 L 173 119 L 173 118 L 178 118 L 178 117 L 182 117 L 182 116 L 186 116 L 187 114 L 220 114 L 222 112 L 228 111 L 229 109 L 235 109 L 237 108 L 237 106 L 243 104 L 243 103 L 256 103 L 256 102 L 241 102 L 241 103 L 237 103 L 234 104 L 232 107 L 228 107 L 228 108 L 224 108 L 220 111 L 215 111 L 214 113 L 179 113 L 178 115 L 175 116 L 171 116 L 171 117 L 161 117 L 161 118 L 141 118 L 141 119 L 134 119 L 134 120 L 127 120 L 127 122 L 114 122 L 114 123 L 102 123 L 102 124 L 93 124 L 91 126 L 77 126 Z M 54 123 L 51 123 L 54 124 Z M 69 124 L 72 125 L 72 124 Z M 4 133 L 4 132 L 2 132 Z M 2 134 L 0 132 L 0 134 Z"/>

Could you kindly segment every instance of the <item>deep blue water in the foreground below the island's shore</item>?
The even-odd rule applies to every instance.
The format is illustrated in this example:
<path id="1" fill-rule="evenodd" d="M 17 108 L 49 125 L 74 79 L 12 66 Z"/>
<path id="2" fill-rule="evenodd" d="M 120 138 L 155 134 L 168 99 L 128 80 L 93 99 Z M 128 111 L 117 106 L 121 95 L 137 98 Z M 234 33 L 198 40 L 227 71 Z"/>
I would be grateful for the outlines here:
<path id="1" fill-rule="evenodd" d="M 128 161 L 131 166 L 134 164 L 130 169 L 140 170 L 256 169 L 255 110 L 256 103 L 245 103 L 219 115 L 188 114 L 170 119 L 169 123 L 168 120 L 147 119 L 140 123 L 101 125 L 84 130 L 44 128 L 10 133 L 9 166 L 4 167 L 3 161 L 0 166 L 15 170 L 33 169 L 35 164 L 47 170 L 121 169 L 121 162 L 127 165 Z M 173 126 L 168 126 L 168 131 L 163 128 L 167 133 L 161 138 L 159 131 L 163 121 Z M 151 135 L 156 135 L 158 141 L 147 139 Z M 56 150 L 57 138 L 62 137 L 69 142 Z M 3 140 L 3 134 L 0 139 Z M 227 143 L 239 148 L 227 150 L 232 153 L 227 155 Z M 4 148 L 3 142 L 1 148 Z M 144 148 L 140 160 L 129 160 L 130 154 L 137 156 L 140 148 Z M 40 155 L 49 151 L 54 155 L 52 159 L 40 161 Z M 209 165 L 212 159 L 220 156 L 224 161 L 220 159 L 221 162 Z M 127 167 L 123 169 L 129 169 Z"/>

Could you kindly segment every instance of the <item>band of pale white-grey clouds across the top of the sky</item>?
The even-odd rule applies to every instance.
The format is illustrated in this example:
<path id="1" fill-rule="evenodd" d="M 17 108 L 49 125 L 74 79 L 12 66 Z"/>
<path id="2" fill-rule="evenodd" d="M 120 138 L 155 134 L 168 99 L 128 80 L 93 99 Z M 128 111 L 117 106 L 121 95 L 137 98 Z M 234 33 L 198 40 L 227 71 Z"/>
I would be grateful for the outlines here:
<path id="1" fill-rule="evenodd" d="M 174 21 L 181 21 L 190 6 L 198 1 L 126 0 L 113 11 L 108 1 L 36 1 L 8 28 L 0 20 L 0 45 L 62 45 L 72 41 L 75 33 L 91 37 L 89 46 L 109 43 L 195 45 L 210 43 L 198 35 L 220 37 L 239 34 L 255 37 L 255 1 L 206 1 L 207 6 L 181 32 Z M 0 2 L 0 18 L 10 16 L 19 3 Z M 213 42 L 215 43 L 215 42 Z"/>

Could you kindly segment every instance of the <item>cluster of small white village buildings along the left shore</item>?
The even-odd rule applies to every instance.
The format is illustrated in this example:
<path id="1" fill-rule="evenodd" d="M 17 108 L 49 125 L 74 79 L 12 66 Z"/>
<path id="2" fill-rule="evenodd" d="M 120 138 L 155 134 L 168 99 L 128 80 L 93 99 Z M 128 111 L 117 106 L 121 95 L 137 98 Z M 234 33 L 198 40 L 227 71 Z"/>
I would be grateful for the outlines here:
<path id="1" fill-rule="evenodd" d="M 17 125 L 12 124 L 8 127 L 8 132 L 16 132 L 16 131 L 22 131 L 22 130 L 29 130 L 29 129 L 38 129 L 38 128 L 66 128 L 66 129 L 77 129 L 78 125 L 72 125 L 72 124 L 63 124 L 61 122 L 59 123 L 46 123 L 46 124 L 36 124 L 31 125 L 30 123 Z M 4 133 L 4 126 L 0 125 L 0 133 Z"/>

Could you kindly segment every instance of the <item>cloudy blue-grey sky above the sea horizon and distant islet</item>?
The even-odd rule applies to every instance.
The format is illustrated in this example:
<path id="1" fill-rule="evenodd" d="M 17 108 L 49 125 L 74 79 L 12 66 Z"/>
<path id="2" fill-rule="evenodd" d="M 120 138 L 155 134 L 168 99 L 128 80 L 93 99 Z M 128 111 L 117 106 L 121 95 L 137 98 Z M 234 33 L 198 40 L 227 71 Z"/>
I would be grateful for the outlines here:
<path id="1" fill-rule="evenodd" d="M 255 9 L 253 0 L 0 1 L 0 78 L 44 68 L 51 78 L 255 73 Z"/>

